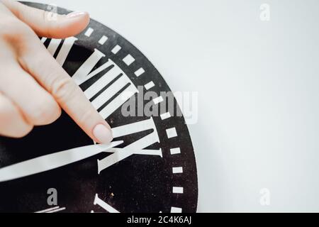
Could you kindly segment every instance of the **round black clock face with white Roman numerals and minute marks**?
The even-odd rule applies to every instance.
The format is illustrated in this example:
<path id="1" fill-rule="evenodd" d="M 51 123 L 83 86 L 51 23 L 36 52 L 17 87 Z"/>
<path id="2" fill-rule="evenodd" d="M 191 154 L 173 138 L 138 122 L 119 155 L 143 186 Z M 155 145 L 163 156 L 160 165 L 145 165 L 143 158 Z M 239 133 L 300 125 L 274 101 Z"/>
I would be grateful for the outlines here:
<path id="1" fill-rule="evenodd" d="M 44 4 L 28 5 L 47 9 Z M 69 13 L 60 8 L 57 12 Z M 0 182 L 0 211 L 196 212 L 198 184 L 189 131 L 183 116 L 177 116 L 175 99 L 173 109 L 159 108 L 172 97 L 163 95 L 170 89 L 149 60 L 94 20 L 76 37 L 41 40 L 113 128 L 114 140 L 124 141 L 118 148 L 132 153 L 127 157 L 101 153 Z M 143 96 L 147 92 L 152 94 L 148 100 Z M 149 106 L 152 115 L 141 113 Z M 130 114 L 123 114 L 125 109 Z M 0 138 L 0 168 L 91 144 L 63 113 L 55 123 L 37 127 L 25 138 Z"/>

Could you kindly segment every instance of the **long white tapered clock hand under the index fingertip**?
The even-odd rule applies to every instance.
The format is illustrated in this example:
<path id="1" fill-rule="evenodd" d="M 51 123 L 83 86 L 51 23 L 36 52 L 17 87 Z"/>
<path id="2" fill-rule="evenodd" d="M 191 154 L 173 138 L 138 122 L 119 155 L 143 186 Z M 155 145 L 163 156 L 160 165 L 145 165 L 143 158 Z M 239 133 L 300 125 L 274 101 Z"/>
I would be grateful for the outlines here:
<path id="1" fill-rule="evenodd" d="M 84 160 L 87 157 L 105 152 L 110 148 L 120 145 L 121 143 L 123 143 L 123 141 L 116 141 L 108 145 L 99 144 L 88 145 L 81 148 L 72 148 L 16 163 L 14 165 L 0 169 L 0 182 L 34 175 L 47 170 L 53 170 L 55 168 L 68 165 L 79 160 Z"/>

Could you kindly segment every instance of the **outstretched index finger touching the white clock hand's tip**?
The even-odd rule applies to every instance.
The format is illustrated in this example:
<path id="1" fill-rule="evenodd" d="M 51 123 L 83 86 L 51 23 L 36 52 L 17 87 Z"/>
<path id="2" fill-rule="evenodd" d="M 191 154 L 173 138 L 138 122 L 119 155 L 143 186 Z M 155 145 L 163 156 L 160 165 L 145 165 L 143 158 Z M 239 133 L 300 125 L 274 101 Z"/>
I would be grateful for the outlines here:
<path id="1" fill-rule="evenodd" d="M 40 40 L 33 39 L 19 61 L 87 135 L 98 143 L 111 142 L 113 135 L 108 123 L 94 109 L 67 72 L 47 52 Z"/>

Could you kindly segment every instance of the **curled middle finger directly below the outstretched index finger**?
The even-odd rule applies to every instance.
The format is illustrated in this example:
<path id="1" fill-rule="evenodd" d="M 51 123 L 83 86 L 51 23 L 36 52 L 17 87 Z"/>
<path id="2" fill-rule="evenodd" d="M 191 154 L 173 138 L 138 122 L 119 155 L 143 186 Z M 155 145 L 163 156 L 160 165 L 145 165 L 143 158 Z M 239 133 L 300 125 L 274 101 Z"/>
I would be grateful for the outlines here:
<path id="1" fill-rule="evenodd" d="M 18 106 L 28 123 L 42 126 L 60 117 L 55 99 L 19 65 L 6 64 L 2 72 L 0 91 Z"/>

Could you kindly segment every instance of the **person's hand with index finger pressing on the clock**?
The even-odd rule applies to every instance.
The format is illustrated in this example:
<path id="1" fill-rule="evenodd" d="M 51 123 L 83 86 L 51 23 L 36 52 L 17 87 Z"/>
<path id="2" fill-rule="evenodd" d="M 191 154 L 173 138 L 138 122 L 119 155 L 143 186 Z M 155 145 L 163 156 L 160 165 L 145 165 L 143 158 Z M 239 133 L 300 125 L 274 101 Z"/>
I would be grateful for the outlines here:
<path id="1" fill-rule="evenodd" d="M 89 14 L 55 18 L 17 1 L 0 0 L 0 135 L 21 138 L 33 126 L 57 120 L 62 108 L 94 141 L 109 143 L 113 137 L 108 123 L 38 38 L 77 35 L 88 25 Z"/>

